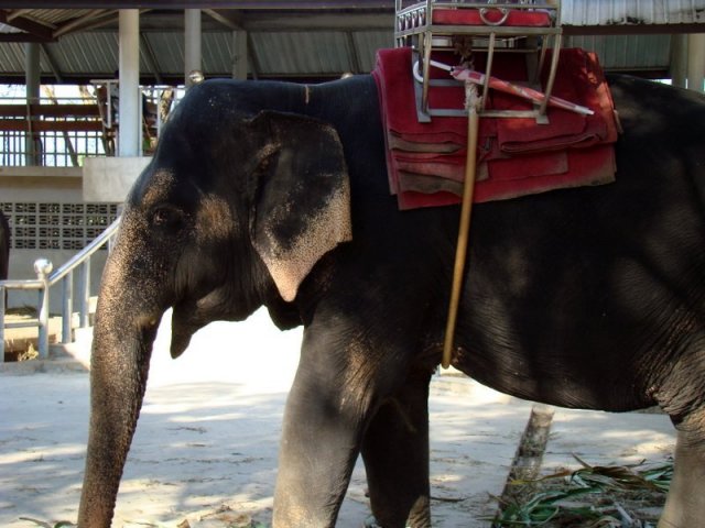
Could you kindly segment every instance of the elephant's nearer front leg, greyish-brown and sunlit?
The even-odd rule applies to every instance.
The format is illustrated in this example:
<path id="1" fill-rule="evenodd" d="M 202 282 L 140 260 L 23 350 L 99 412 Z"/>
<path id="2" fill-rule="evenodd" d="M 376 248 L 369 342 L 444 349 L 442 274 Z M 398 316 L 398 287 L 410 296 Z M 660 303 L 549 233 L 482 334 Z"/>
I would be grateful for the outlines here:
<path id="1" fill-rule="evenodd" d="M 381 374 L 368 350 L 306 329 L 284 413 L 274 528 L 335 526 L 378 399 Z"/>

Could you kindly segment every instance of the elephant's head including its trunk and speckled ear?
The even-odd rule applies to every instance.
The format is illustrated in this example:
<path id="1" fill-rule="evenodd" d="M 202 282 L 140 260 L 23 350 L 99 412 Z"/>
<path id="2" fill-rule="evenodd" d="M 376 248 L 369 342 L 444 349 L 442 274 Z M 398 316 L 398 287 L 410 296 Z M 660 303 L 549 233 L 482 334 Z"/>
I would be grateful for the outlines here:
<path id="1" fill-rule="evenodd" d="M 96 314 L 82 528 L 110 526 L 164 311 L 174 310 L 174 358 L 198 328 L 262 305 L 293 326 L 300 285 L 350 239 L 336 131 L 243 108 L 252 94 L 236 82 L 193 88 L 127 199 Z"/>

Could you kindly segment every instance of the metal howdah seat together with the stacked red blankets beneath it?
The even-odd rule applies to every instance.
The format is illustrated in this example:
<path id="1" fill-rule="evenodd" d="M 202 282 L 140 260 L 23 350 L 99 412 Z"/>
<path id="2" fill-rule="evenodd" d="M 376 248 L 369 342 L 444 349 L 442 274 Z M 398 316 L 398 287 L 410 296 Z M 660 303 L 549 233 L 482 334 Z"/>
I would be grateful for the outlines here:
<path id="1" fill-rule="evenodd" d="M 482 118 L 474 201 L 614 182 L 609 88 L 595 55 L 561 50 L 560 0 L 395 8 L 397 48 L 378 53 L 373 75 L 401 209 L 459 201 L 469 84 Z"/>

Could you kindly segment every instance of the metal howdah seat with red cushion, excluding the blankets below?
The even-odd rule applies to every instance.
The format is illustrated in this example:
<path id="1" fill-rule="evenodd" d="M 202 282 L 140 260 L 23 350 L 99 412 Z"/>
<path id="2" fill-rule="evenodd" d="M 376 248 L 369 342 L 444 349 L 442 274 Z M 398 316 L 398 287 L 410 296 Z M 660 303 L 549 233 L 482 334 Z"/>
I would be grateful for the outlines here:
<path id="1" fill-rule="evenodd" d="M 490 87 L 494 61 L 506 54 L 520 55 L 527 62 L 527 82 L 538 88 L 539 75 L 544 68 L 547 51 L 560 52 L 562 41 L 560 0 L 395 0 L 395 47 L 414 51 L 414 70 L 417 72 L 416 111 L 421 121 L 434 116 L 458 116 L 453 107 L 434 106 L 430 100 L 433 86 L 443 86 L 449 79 L 433 77 L 432 55 L 454 51 L 464 62 L 475 66 L 484 55 L 485 79 L 482 96 Z M 557 56 L 553 54 L 544 82 L 545 98 L 529 109 L 495 109 L 491 114 L 533 117 L 545 122 L 547 100 L 553 90 L 557 70 Z M 518 113 L 519 112 L 519 113 Z M 487 113 L 485 102 L 481 112 Z"/>

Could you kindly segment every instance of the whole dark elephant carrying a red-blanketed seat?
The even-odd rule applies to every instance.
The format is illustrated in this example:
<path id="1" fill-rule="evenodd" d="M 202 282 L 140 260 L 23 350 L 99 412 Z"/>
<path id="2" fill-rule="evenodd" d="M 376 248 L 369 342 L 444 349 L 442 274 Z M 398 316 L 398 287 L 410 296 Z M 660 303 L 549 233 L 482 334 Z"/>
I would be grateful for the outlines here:
<path id="1" fill-rule="evenodd" d="M 660 406 L 676 429 L 660 527 L 705 518 L 705 100 L 609 76 L 623 133 L 609 185 L 478 204 L 452 364 L 554 406 Z M 429 385 L 457 206 L 399 211 L 377 86 L 210 79 L 131 188 L 91 350 L 78 525 L 107 527 L 158 326 L 171 354 L 267 307 L 303 326 L 273 526 L 332 527 L 362 458 L 379 526 L 431 526 Z"/>

